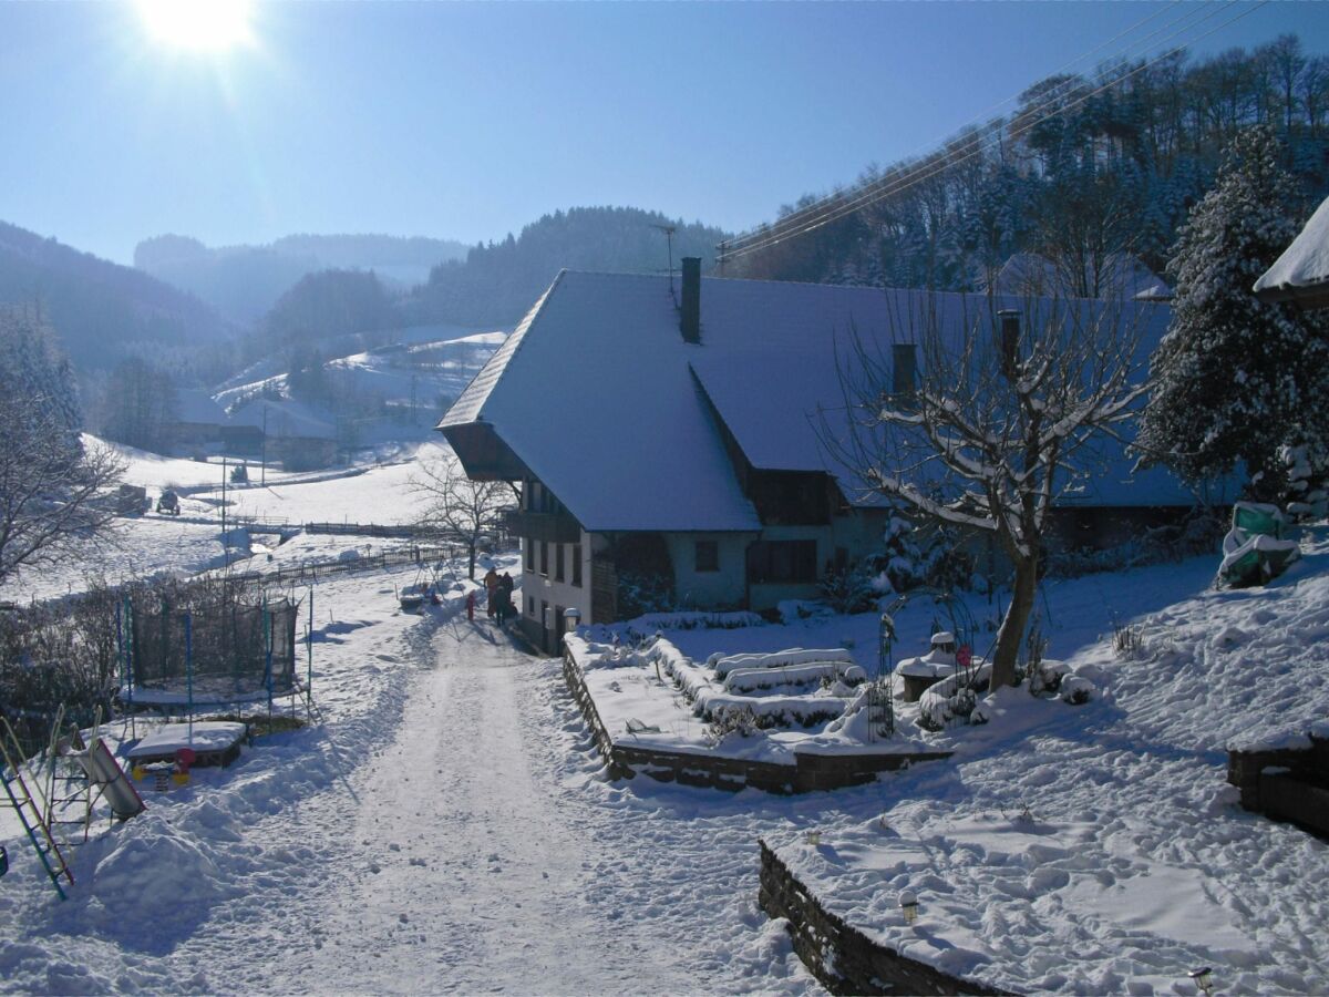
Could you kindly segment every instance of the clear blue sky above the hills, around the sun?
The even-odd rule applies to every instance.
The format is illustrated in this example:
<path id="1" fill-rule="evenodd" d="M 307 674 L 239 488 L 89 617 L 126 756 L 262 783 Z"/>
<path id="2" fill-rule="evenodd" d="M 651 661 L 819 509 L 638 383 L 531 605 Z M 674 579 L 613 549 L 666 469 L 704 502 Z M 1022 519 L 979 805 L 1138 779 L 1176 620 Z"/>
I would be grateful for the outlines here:
<path id="1" fill-rule="evenodd" d="M 132 4 L 0 3 L 0 219 L 118 262 L 163 231 L 500 239 L 575 205 L 742 230 L 1096 47 L 1073 68 L 1251 8 L 283 3 L 206 53 Z M 1289 31 L 1329 53 L 1329 4 L 1251 9 L 1193 51 Z"/>

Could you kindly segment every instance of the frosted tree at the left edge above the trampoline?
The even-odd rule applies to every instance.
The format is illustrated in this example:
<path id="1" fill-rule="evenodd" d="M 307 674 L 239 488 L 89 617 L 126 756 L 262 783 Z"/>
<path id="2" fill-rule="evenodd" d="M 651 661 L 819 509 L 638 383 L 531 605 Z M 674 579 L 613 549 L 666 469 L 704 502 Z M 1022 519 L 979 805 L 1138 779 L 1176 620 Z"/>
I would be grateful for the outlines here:
<path id="1" fill-rule="evenodd" d="M 84 557 L 116 516 L 124 465 L 82 445 L 44 399 L 0 383 L 0 580 Z"/>

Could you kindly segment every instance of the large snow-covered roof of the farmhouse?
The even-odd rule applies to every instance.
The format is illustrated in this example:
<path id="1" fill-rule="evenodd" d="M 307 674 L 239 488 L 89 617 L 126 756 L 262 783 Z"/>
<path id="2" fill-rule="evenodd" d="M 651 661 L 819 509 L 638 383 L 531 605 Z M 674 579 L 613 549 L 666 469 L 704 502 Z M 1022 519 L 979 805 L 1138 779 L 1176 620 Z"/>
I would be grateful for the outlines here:
<path id="1" fill-rule="evenodd" d="M 663 275 L 560 274 L 439 428 L 490 427 L 593 532 L 759 529 L 716 413 L 754 468 L 824 471 L 876 504 L 824 444 L 848 432 L 840 367 L 855 335 L 889 356 L 928 295 L 703 278 L 702 342 L 688 344 L 678 290 Z M 974 300 L 933 303 L 958 315 Z M 1155 316 L 1151 347 L 1166 310 L 1126 307 Z M 1120 445 L 1107 451 L 1086 504 L 1189 502 L 1162 472 L 1138 487 Z"/>

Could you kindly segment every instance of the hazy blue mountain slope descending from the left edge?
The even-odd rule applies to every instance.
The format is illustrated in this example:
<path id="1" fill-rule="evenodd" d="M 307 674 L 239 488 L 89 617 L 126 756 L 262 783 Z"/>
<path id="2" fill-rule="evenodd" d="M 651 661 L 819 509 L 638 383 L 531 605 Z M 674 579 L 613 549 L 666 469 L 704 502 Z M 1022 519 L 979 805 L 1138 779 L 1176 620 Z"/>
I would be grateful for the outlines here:
<path id="1" fill-rule="evenodd" d="M 106 370 L 145 346 L 194 347 L 235 332 L 191 294 L 7 222 L 0 303 L 35 308 L 80 371 Z"/>

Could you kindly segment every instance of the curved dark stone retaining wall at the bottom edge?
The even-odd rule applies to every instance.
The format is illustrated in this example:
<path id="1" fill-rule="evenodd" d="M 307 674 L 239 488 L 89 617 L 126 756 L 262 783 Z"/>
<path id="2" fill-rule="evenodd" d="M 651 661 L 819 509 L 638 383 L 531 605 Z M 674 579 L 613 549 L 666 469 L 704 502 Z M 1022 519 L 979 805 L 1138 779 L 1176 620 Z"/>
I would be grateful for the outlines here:
<path id="1" fill-rule="evenodd" d="M 831 993 L 1005 994 L 901 956 L 827 911 L 780 857 L 762 848 L 758 900 L 771 917 L 788 921 L 799 958 Z"/>

